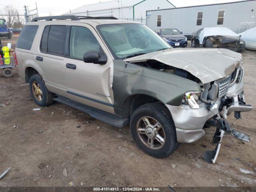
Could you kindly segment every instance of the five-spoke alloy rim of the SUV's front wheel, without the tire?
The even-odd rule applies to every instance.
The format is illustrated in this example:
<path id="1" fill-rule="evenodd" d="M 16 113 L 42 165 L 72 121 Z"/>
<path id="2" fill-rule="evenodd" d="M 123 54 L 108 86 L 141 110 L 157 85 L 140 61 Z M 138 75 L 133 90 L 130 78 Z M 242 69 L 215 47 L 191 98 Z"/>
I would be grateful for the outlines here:
<path id="1" fill-rule="evenodd" d="M 136 125 L 142 143 L 150 149 L 158 150 L 165 144 L 165 132 L 161 124 L 152 117 L 140 118 Z"/>

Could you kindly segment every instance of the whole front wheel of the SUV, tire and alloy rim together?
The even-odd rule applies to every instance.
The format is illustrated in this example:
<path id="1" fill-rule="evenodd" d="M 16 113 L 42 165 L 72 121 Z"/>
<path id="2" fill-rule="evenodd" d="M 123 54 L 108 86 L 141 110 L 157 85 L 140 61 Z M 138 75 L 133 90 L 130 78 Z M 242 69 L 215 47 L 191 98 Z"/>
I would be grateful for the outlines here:
<path id="1" fill-rule="evenodd" d="M 131 116 L 130 129 L 136 144 L 153 157 L 168 157 L 178 147 L 176 128 L 164 104 L 148 103 L 137 108 Z"/>

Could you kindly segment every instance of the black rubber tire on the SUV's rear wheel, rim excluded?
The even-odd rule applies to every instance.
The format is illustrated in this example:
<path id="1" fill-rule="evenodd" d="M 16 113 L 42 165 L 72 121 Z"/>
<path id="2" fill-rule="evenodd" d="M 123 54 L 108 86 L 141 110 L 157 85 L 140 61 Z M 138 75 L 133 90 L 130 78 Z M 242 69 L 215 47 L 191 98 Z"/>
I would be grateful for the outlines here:
<path id="1" fill-rule="evenodd" d="M 32 91 L 33 82 L 37 82 L 42 90 L 42 100 L 38 101 Z M 36 104 L 39 106 L 49 106 L 53 102 L 54 94 L 49 92 L 45 86 L 44 80 L 39 74 L 33 75 L 29 80 L 30 93 Z"/>

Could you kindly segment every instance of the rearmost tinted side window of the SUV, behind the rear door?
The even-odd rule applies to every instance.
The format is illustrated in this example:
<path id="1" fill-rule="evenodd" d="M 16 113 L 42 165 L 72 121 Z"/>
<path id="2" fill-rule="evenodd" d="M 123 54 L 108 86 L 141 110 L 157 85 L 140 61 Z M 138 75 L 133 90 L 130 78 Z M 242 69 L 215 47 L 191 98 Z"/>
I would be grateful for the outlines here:
<path id="1" fill-rule="evenodd" d="M 30 50 L 35 38 L 38 25 L 26 25 L 20 32 L 16 47 Z"/>

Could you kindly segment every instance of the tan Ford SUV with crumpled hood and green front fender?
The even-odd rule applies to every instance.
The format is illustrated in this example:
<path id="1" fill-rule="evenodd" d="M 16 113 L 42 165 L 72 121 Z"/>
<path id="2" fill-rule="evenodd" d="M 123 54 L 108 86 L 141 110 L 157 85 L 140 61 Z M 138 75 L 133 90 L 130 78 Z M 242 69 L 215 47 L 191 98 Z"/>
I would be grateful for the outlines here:
<path id="1" fill-rule="evenodd" d="M 172 48 L 144 24 L 115 18 L 50 16 L 23 28 L 16 56 L 20 77 L 39 106 L 53 101 L 116 127 L 130 125 L 136 144 L 164 158 L 178 143 L 216 126 L 215 162 L 226 116 L 245 104 L 241 54 Z"/>

